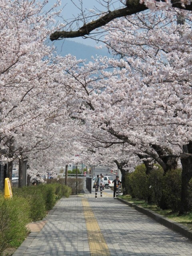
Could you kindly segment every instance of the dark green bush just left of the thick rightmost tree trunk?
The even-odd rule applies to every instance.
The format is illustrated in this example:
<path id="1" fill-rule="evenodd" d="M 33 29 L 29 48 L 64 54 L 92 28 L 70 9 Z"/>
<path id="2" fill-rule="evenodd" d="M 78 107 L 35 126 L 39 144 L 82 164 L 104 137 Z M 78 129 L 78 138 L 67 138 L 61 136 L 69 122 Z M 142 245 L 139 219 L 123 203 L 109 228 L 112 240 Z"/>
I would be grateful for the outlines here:
<path id="1" fill-rule="evenodd" d="M 170 170 L 163 178 L 163 194 L 173 212 L 177 212 L 180 207 L 181 174 L 181 169 Z"/>

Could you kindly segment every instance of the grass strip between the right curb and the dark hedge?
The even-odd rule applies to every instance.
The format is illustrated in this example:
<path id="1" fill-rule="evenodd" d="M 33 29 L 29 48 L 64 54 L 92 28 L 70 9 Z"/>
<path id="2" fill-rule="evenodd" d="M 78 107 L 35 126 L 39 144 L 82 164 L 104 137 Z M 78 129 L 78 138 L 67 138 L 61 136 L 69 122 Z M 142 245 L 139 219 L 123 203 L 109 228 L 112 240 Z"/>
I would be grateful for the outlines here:
<path id="1" fill-rule="evenodd" d="M 147 204 L 145 200 L 131 198 L 130 195 L 119 196 L 119 197 L 130 203 L 134 203 L 138 206 L 142 206 L 146 209 L 152 210 L 162 216 L 165 216 L 166 218 L 169 218 L 171 220 L 184 224 L 192 231 L 192 212 L 189 212 L 188 214 L 178 215 L 178 212 L 172 212 L 172 210 L 162 210 L 159 207 L 157 207 L 155 204 Z"/>

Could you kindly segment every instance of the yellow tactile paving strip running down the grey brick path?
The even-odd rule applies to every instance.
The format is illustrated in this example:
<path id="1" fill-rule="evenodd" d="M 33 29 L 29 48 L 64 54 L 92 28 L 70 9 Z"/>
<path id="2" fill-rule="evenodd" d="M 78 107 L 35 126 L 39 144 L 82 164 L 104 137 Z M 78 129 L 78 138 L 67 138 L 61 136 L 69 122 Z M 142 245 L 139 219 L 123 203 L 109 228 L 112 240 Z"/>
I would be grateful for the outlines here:
<path id="1" fill-rule="evenodd" d="M 82 198 L 82 205 L 91 256 L 110 256 L 109 248 L 86 198 Z"/>

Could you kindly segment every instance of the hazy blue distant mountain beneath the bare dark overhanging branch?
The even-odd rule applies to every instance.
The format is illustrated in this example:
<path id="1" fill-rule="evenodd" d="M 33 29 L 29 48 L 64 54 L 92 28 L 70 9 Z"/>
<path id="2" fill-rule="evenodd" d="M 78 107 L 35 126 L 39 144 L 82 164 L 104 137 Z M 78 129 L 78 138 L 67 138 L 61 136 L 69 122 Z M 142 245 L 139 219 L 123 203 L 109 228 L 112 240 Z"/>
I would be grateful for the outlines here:
<path id="1" fill-rule="evenodd" d="M 112 57 L 106 48 L 97 49 L 93 46 L 88 46 L 70 40 L 55 41 L 54 46 L 56 47 L 57 53 L 61 56 L 71 54 L 76 56 L 77 59 L 86 59 L 88 62 L 92 61 L 91 56 L 96 57 L 96 55 L 102 55 Z"/>

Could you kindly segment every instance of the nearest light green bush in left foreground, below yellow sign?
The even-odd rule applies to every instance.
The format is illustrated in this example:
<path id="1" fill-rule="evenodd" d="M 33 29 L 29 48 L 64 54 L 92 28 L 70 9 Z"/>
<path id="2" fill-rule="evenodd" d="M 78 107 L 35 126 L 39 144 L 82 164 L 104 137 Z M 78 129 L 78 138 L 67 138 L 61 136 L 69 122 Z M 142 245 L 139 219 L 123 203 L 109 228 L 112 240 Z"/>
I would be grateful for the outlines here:
<path id="1" fill-rule="evenodd" d="M 27 235 L 30 205 L 25 198 L 0 196 L 0 253 L 8 246 L 18 247 Z"/>

